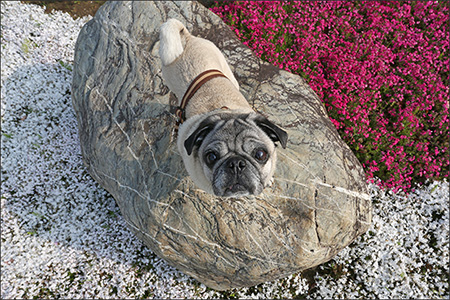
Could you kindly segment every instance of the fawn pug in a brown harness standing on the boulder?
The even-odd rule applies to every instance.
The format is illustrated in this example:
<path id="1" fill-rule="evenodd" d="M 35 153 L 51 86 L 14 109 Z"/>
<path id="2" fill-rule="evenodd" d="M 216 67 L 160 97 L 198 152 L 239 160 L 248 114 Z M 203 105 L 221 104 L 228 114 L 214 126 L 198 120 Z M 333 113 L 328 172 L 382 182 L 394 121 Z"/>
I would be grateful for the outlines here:
<path id="1" fill-rule="evenodd" d="M 161 26 L 159 55 L 179 100 L 177 146 L 194 183 L 220 197 L 260 194 L 272 182 L 275 143 L 286 148 L 287 133 L 250 107 L 220 50 L 180 21 Z"/>

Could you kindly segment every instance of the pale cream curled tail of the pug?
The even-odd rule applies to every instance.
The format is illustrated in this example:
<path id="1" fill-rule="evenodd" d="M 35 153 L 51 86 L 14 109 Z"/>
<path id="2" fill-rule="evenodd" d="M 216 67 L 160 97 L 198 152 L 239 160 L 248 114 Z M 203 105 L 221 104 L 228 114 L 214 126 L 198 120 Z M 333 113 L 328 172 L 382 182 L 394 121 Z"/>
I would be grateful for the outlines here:
<path id="1" fill-rule="evenodd" d="M 169 19 L 159 30 L 159 56 L 164 66 L 170 65 L 183 53 L 189 31 L 180 21 Z"/>

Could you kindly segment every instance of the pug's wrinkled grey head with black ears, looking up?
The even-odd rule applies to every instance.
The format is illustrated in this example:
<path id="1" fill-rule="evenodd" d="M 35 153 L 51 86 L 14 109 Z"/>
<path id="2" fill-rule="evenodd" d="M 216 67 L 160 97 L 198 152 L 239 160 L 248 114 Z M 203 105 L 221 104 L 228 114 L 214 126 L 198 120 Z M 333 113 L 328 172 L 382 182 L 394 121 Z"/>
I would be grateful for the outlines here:
<path id="1" fill-rule="evenodd" d="M 203 120 L 184 147 L 196 172 L 203 172 L 193 174 L 194 180 L 205 178 L 216 196 L 234 197 L 258 195 L 270 183 L 274 142 L 284 148 L 287 134 L 265 117 L 222 113 Z"/>

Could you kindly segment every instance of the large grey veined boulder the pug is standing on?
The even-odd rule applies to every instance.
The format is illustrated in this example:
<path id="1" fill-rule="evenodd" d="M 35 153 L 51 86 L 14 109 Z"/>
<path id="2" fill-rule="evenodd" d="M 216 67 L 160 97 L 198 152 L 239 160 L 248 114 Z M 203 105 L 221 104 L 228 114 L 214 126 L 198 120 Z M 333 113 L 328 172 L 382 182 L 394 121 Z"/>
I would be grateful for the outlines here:
<path id="1" fill-rule="evenodd" d="M 289 133 L 271 188 L 217 198 L 188 177 L 161 78 L 168 18 L 213 41 L 254 109 Z M 108 2 L 81 30 L 73 72 L 82 155 L 130 229 L 205 285 L 252 286 L 314 267 L 364 233 L 371 201 L 361 165 L 299 77 L 262 62 L 196 2 Z"/>

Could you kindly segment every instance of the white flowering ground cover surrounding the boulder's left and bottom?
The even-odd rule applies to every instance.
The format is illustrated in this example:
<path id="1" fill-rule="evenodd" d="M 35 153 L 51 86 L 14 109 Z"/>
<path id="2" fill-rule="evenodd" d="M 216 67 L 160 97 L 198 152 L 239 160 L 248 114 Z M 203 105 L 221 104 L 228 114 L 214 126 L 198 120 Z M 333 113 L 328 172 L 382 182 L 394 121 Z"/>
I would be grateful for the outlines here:
<path id="1" fill-rule="evenodd" d="M 73 50 L 90 18 L 1 2 L 1 299 L 448 299 L 449 183 L 369 184 L 368 232 L 321 266 L 216 292 L 127 228 L 81 159 Z"/>

